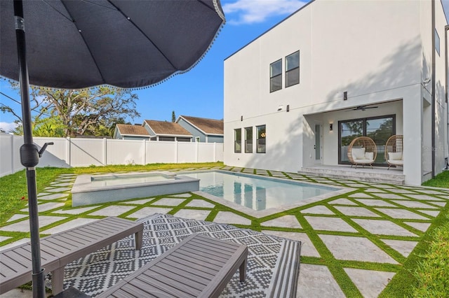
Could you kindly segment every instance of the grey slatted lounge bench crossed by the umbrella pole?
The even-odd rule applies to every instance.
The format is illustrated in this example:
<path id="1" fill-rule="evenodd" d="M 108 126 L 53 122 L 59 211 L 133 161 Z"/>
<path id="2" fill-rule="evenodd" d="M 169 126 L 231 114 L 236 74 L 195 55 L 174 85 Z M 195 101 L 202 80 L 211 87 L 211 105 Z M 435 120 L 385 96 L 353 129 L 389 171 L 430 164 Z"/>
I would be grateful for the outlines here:
<path id="1" fill-rule="evenodd" d="M 52 273 L 53 295 L 62 292 L 64 267 L 130 234 L 142 248 L 143 223 L 108 217 L 41 239 L 41 267 Z M 32 280 L 31 244 L 0 250 L 0 294 Z"/>

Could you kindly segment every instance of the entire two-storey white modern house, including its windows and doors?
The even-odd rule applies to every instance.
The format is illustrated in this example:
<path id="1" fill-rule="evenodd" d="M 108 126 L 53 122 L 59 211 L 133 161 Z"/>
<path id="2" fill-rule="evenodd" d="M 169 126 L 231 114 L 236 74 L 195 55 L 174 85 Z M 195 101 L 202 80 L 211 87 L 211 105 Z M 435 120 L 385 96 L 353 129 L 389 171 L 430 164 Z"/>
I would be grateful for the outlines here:
<path id="1" fill-rule="evenodd" d="M 405 182 L 441 172 L 446 25 L 441 1 L 311 1 L 225 59 L 225 164 L 348 164 L 349 141 L 368 135 L 382 166 L 403 134 Z"/>

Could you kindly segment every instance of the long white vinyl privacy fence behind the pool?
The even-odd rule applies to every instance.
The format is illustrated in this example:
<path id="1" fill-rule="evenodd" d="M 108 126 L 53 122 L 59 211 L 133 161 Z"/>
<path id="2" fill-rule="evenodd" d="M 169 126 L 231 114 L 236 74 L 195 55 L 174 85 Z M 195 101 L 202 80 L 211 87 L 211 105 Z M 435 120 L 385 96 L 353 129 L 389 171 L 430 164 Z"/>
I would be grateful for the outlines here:
<path id="1" fill-rule="evenodd" d="M 223 160 L 222 143 L 34 137 L 40 148 L 53 142 L 38 166 L 67 168 L 109 164 L 217 162 Z M 24 169 L 20 164 L 22 136 L 0 133 L 0 177 Z"/>

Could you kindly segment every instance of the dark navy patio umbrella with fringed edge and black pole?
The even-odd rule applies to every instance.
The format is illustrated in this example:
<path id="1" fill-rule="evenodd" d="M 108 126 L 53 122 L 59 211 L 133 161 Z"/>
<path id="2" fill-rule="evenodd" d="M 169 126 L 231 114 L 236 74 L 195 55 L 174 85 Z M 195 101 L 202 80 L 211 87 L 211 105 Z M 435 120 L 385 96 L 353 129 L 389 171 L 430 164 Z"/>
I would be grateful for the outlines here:
<path id="1" fill-rule="evenodd" d="M 20 82 L 33 260 L 44 297 L 29 84 L 138 88 L 191 69 L 225 23 L 220 0 L 1 0 L 0 75 Z M 26 35 L 26 38 L 25 38 Z"/>

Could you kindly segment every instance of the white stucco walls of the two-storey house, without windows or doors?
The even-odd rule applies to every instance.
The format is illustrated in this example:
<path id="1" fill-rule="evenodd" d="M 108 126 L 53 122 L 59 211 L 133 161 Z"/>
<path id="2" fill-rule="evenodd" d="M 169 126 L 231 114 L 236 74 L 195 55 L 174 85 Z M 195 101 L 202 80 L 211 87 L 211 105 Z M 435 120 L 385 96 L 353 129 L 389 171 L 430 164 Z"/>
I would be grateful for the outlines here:
<path id="1" fill-rule="evenodd" d="M 436 3 L 436 10 L 443 47 L 441 3 Z M 396 114 L 396 134 L 404 134 L 405 140 L 406 183 L 420 184 L 431 157 L 423 152 L 424 144 L 431 146 L 423 138 L 430 135 L 430 126 L 422 125 L 431 115 L 423 111 L 422 91 L 422 80 L 430 76 L 429 59 L 431 71 L 430 34 L 431 1 L 309 3 L 225 60 L 225 164 L 291 172 L 314 164 L 316 121 L 323 125 L 322 162 L 337 164 L 338 120 Z M 422 44 L 428 45 L 429 38 L 426 48 Z M 285 87 L 285 57 L 297 50 L 300 84 Z M 442 60 L 437 59 L 441 83 L 443 51 Z M 279 59 L 283 88 L 270 93 L 269 65 Z M 347 101 L 343 100 L 344 91 L 348 92 Z M 390 101 L 367 111 L 337 111 Z M 283 110 L 277 111 L 281 105 Z M 440 123 L 447 122 L 445 115 L 444 105 L 440 105 Z M 267 153 L 244 153 L 244 139 L 242 152 L 234 153 L 234 129 L 255 129 L 256 125 L 267 125 Z M 440 130 L 443 127 L 438 125 Z M 255 131 L 253 134 L 255 143 Z M 444 143 L 444 138 L 438 139 L 438 144 Z"/>

